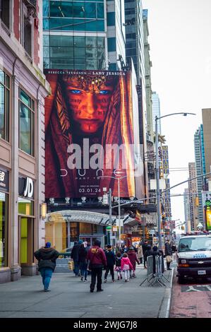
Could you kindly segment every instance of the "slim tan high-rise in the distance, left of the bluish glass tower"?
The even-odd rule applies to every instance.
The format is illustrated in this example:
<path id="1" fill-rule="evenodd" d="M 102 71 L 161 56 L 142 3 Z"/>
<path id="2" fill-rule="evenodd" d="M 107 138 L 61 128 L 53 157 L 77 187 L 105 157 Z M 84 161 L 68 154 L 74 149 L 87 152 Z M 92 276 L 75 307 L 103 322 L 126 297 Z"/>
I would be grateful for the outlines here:
<path id="1" fill-rule="evenodd" d="M 188 163 L 189 179 L 196 177 L 195 162 Z M 188 182 L 188 194 L 190 203 L 191 230 L 197 230 L 198 226 L 198 197 L 196 179 Z"/>

